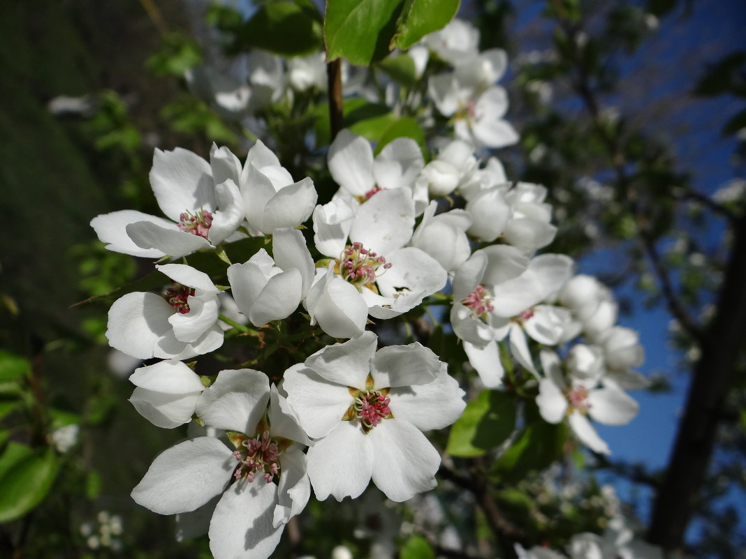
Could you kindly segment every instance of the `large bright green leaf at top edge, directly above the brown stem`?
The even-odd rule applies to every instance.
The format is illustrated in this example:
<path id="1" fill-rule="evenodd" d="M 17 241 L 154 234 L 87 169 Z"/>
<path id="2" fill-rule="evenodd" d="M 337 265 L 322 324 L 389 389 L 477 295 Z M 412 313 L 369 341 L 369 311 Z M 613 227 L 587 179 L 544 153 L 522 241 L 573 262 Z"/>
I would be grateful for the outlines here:
<path id="1" fill-rule="evenodd" d="M 403 7 L 404 0 L 328 0 L 327 59 L 369 66 L 385 57 Z"/>

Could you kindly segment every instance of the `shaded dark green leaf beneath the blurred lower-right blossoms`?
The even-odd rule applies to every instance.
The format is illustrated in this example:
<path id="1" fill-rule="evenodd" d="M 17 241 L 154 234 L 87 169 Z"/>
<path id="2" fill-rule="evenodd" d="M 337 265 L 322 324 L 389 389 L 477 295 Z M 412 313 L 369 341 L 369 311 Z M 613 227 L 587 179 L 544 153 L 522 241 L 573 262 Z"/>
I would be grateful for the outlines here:
<path id="1" fill-rule="evenodd" d="M 504 454 L 492 464 L 492 473 L 502 481 L 518 481 L 527 473 L 541 471 L 562 455 L 567 437 L 564 423 L 544 420 L 529 423 Z"/>

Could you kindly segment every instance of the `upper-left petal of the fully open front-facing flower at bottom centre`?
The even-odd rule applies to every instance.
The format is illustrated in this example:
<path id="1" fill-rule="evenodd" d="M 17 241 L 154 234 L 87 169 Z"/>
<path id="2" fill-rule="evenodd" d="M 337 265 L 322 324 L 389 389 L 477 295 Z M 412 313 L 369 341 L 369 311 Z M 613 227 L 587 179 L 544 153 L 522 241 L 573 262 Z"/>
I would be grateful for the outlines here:
<path id="1" fill-rule="evenodd" d="M 371 372 L 371 359 L 377 343 L 378 338 L 373 332 L 363 332 L 358 338 L 317 351 L 306 359 L 305 365 L 329 382 L 363 389 Z"/>

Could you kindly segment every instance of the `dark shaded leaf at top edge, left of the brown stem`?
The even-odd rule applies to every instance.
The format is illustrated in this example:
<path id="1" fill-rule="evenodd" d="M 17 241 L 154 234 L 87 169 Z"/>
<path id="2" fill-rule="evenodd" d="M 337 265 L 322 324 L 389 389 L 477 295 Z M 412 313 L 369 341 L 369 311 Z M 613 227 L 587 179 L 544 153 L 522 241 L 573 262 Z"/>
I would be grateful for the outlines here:
<path id="1" fill-rule="evenodd" d="M 285 57 L 322 51 L 321 14 L 310 1 L 266 2 L 239 30 L 236 46 Z"/>

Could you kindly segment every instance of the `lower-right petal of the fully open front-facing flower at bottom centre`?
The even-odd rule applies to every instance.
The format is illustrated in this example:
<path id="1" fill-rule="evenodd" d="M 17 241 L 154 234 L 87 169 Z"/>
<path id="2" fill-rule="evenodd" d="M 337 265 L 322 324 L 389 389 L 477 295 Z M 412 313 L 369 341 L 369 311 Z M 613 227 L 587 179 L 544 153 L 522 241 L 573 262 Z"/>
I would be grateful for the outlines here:
<path id="1" fill-rule="evenodd" d="M 436 486 L 440 455 L 407 420 L 383 420 L 368 437 L 373 483 L 392 501 L 402 502 Z"/>

